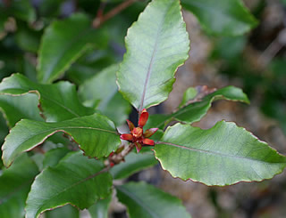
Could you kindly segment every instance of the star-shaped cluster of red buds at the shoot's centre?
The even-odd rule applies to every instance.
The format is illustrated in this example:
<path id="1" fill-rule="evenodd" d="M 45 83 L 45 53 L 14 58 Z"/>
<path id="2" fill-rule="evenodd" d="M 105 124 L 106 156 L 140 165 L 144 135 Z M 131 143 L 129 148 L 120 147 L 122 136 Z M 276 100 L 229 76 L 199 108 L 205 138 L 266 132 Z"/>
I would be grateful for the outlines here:
<path id="1" fill-rule="evenodd" d="M 144 145 L 154 145 L 154 141 L 148 138 L 151 137 L 154 133 L 156 133 L 158 128 L 147 129 L 147 131 L 143 133 L 143 126 L 146 125 L 148 117 L 149 114 L 147 112 L 147 109 L 143 109 L 139 117 L 138 127 L 135 127 L 135 125 L 133 125 L 133 123 L 127 119 L 126 121 L 129 126 L 130 133 L 122 134 L 120 136 L 122 140 L 134 143 L 137 152 L 139 152 Z"/>

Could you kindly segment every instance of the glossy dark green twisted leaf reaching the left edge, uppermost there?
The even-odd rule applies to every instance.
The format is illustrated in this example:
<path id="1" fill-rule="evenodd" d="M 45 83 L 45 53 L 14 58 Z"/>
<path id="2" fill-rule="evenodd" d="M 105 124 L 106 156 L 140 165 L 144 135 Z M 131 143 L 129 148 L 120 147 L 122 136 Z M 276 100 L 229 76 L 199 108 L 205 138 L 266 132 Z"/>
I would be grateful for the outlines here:
<path id="1" fill-rule="evenodd" d="M 95 112 L 94 109 L 84 107 L 80 103 L 75 85 L 69 82 L 39 85 L 21 74 L 13 74 L 4 78 L 0 84 L 0 94 L 16 96 L 26 93 L 38 94 L 39 109 L 48 122 L 82 117 Z"/>

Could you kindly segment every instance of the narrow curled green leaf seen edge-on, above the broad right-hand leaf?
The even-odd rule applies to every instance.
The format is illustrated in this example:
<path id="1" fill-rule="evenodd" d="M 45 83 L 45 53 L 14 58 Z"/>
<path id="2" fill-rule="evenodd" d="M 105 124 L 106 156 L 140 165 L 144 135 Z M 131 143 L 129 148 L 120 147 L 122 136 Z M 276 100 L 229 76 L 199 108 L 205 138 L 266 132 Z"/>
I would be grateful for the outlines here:
<path id="1" fill-rule="evenodd" d="M 177 112 L 171 115 L 151 116 L 150 125 L 152 127 L 164 128 L 164 125 L 170 120 L 179 120 L 181 122 L 192 124 L 199 121 L 207 113 L 207 110 L 212 106 L 213 101 L 228 100 L 228 101 L 241 101 L 249 103 L 248 96 L 242 92 L 240 88 L 234 86 L 226 86 L 214 93 L 207 94 L 203 99 L 198 99 L 189 105 L 182 107 Z M 153 123 L 154 122 L 154 123 Z"/>

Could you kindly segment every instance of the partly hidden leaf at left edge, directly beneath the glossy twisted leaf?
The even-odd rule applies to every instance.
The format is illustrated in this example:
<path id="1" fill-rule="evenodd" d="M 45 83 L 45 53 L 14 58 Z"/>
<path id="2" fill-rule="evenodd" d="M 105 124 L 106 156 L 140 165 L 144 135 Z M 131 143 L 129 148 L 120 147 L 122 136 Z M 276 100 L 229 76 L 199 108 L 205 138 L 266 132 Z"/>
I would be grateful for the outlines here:
<path id="1" fill-rule="evenodd" d="M 0 108 L 9 127 L 13 127 L 22 118 L 43 120 L 37 106 L 38 98 L 31 93 L 23 96 L 0 95 Z"/>

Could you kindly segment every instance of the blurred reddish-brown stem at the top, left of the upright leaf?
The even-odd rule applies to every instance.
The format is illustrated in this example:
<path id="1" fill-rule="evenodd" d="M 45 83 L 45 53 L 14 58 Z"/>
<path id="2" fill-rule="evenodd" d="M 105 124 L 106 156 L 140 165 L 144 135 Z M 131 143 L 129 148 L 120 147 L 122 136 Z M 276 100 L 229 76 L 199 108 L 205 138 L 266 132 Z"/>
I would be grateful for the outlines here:
<path id="1" fill-rule="evenodd" d="M 94 28 L 99 28 L 106 20 L 113 18 L 116 14 L 118 14 L 119 12 L 122 12 L 124 9 L 126 9 L 131 4 L 135 3 L 136 1 L 137 0 L 126 0 L 122 4 L 119 4 L 117 7 L 115 7 L 110 12 L 107 12 L 105 15 L 97 16 L 97 18 L 95 20 L 93 20 L 92 26 Z M 99 10 L 100 10 L 100 8 L 99 8 Z M 99 14 L 100 14 L 100 12 L 99 12 Z"/>

